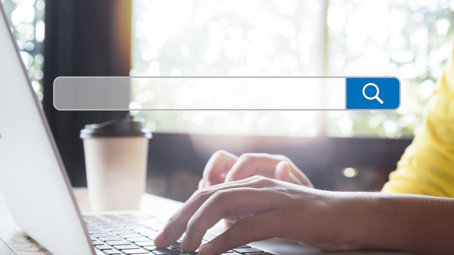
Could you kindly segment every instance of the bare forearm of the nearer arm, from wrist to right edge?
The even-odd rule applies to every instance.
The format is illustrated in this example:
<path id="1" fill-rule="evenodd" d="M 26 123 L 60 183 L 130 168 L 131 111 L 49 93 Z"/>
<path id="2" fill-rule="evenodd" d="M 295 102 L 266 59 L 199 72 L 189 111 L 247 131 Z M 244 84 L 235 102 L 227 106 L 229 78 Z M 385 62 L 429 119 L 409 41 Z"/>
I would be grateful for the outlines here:
<path id="1" fill-rule="evenodd" d="M 338 192 L 352 240 L 361 249 L 417 255 L 452 254 L 454 199 L 371 192 Z"/>

